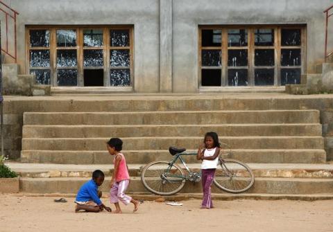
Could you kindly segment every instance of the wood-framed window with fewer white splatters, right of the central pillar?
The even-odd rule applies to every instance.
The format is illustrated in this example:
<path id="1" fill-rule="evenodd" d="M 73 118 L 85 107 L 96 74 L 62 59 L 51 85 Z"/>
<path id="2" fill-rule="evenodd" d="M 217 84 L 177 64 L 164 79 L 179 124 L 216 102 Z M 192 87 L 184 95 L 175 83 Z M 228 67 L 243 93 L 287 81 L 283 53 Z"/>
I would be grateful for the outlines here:
<path id="1" fill-rule="evenodd" d="M 304 26 L 200 26 L 199 86 L 300 84 Z"/>

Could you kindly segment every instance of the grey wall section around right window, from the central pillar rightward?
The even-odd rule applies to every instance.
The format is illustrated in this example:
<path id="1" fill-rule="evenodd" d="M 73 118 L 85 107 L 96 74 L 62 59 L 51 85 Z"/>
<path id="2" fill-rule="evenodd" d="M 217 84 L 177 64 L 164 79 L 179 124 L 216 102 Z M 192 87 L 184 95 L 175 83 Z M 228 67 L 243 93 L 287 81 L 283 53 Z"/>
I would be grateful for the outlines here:
<path id="1" fill-rule="evenodd" d="M 198 87 L 198 25 L 307 24 L 307 72 L 313 73 L 315 64 L 323 62 L 323 10 L 331 5 L 325 0 L 174 0 L 173 91 Z"/>

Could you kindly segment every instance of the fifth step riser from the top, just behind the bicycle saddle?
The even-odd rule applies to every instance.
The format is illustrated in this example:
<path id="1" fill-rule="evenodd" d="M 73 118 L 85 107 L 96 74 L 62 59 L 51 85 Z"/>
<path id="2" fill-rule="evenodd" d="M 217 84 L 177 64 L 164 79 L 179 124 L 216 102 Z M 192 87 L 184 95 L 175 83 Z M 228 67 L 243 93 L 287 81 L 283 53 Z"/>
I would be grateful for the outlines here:
<path id="1" fill-rule="evenodd" d="M 126 152 L 127 163 L 150 163 L 156 160 L 171 160 L 167 151 L 162 152 Z M 325 150 L 293 151 L 293 152 L 232 152 L 232 159 L 246 163 L 325 163 Z M 59 163 L 59 164 L 105 164 L 112 163 L 107 152 L 61 152 L 61 151 L 22 151 L 21 161 L 24 163 Z M 185 158 L 188 163 L 196 163 L 195 156 Z"/>

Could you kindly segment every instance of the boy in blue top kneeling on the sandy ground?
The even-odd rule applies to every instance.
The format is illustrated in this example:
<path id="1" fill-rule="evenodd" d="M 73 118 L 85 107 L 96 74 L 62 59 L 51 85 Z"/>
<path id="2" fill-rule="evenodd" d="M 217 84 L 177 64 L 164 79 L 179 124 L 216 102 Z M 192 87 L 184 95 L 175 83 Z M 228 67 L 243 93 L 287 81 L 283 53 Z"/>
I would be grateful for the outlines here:
<path id="1" fill-rule="evenodd" d="M 99 199 L 101 195 L 99 195 L 98 188 L 103 184 L 103 181 L 104 173 L 101 170 L 92 172 L 92 179 L 83 184 L 78 190 L 78 195 L 76 195 L 76 213 L 80 210 L 98 213 L 103 211 L 104 208 L 106 211 L 111 212 L 111 208 L 105 206 Z"/>

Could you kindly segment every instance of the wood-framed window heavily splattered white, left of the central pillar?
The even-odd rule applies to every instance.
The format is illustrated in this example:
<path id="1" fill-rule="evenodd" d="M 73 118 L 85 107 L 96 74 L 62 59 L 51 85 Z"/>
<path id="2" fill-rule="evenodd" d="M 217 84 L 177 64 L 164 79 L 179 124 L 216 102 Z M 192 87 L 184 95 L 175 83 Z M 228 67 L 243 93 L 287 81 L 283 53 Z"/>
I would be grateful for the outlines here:
<path id="1" fill-rule="evenodd" d="M 133 27 L 27 27 L 27 71 L 37 84 L 130 87 Z"/>

